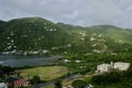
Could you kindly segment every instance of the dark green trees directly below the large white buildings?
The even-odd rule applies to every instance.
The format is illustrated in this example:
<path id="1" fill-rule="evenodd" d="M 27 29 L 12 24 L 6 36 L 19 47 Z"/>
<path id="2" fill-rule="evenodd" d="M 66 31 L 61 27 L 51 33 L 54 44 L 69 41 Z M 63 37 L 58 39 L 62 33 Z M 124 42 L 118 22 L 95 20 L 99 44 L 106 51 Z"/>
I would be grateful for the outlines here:
<path id="1" fill-rule="evenodd" d="M 132 68 L 127 72 L 112 72 L 103 75 L 96 75 L 91 82 L 97 88 L 132 88 Z"/>

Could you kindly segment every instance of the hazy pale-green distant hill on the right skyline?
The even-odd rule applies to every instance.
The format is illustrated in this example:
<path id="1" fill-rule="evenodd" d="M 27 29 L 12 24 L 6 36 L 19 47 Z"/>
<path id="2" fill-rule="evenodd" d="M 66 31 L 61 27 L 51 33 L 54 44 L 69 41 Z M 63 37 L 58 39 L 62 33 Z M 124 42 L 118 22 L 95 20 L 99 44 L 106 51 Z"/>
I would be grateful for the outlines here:
<path id="1" fill-rule="evenodd" d="M 112 25 L 96 25 L 91 28 L 87 28 L 89 32 L 96 34 L 103 34 L 114 42 L 120 43 L 131 43 L 132 44 L 132 31 L 112 26 Z"/>

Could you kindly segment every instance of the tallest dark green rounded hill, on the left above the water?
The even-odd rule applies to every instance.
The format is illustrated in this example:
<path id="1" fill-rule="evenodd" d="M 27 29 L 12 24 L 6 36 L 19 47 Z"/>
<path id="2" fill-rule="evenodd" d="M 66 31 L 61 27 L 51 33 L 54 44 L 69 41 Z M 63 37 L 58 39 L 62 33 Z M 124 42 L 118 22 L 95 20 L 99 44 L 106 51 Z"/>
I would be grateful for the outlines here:
<path id="1" fill-rule="evenodd" d="M 43 51 L 67 44 L 65 30 L 41 18 L 9 21 L 0 35 L 1 51 Z M 9 46 L 7 48 L 7 46 Z"/>

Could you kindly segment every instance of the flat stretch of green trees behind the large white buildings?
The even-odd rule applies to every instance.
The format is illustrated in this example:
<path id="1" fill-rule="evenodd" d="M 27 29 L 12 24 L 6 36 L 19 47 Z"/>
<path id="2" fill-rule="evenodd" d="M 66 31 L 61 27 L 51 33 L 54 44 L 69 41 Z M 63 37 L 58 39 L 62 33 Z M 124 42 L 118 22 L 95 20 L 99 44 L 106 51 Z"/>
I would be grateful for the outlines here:
<path id="1" fill-rule="evenodd" d="M 70 62 L 62 62 L 57 61 L 61 65 L 65 65 L 69 68 L 70 73 L 91 73 L 94 74 L 97 69 L 97 65 L 99 64 L 110 64 L 111 62 L 128 62 L 132 64 L 132 53 L 88 53 L 87 55 L 74 55 L 74 56 L 66 56 L 62 61 L 68 59 Z M 76 63 L 76 61 L 80 61 Z"/>

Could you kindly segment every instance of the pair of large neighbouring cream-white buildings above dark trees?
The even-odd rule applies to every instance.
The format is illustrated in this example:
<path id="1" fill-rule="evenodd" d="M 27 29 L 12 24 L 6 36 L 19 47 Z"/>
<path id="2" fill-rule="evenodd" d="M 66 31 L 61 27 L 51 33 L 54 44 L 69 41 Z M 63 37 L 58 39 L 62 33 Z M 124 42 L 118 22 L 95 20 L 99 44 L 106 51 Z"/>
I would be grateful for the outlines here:
<path id="1" fill-rule="evenodd" d="M 117 62 L 111 64 L 100 64 L 97 66 L 96 73 L 108 73 L 112 69 L 118 69 L 118 70 L 128 70 L 130 67 L 130 63 L 122 63 L 122 62 Z"/>

